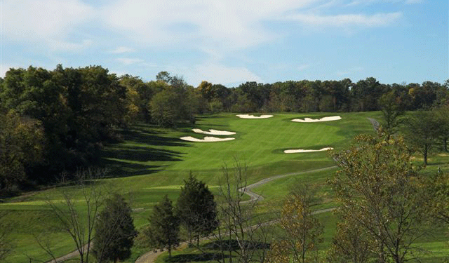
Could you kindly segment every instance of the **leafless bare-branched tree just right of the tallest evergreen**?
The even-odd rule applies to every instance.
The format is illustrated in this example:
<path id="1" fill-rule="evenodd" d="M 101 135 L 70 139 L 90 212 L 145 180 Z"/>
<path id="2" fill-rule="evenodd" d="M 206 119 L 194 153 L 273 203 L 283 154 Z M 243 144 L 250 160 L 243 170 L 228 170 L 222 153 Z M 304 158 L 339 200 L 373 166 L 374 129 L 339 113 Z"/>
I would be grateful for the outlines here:
<path id="1" fill-rule="evenodd" d="M 246 166 L 235 161 L 233 169 L 225 166 L 220 191 L 217 196 L 217 213 L 220 227 L 213 238 L 221 256 L 218 262 L 265 262 L 269 252 L 268 227 L 255 214 L 257 201 L 243 202 L 248 185 Z"/>

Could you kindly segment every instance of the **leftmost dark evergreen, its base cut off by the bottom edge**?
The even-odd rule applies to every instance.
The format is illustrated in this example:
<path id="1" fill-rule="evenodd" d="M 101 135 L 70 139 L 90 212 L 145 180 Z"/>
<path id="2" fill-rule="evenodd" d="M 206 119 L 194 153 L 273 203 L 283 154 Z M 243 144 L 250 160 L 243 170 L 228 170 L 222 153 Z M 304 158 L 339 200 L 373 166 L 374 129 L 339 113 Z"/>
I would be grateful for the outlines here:
<path id="1" fill-rule="evenodd" d="M 137 231 L 134 229 L 131 208 L 123 196 L 115 194 L 106 202 L 95 224 L 93 253 L 98 262 L 117 262 L 128 259 Z"/>

